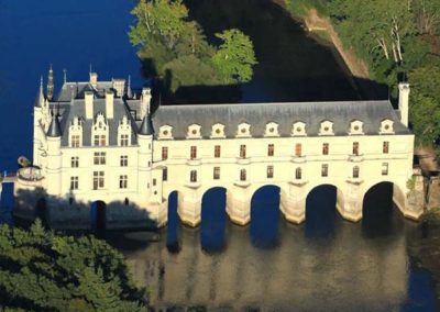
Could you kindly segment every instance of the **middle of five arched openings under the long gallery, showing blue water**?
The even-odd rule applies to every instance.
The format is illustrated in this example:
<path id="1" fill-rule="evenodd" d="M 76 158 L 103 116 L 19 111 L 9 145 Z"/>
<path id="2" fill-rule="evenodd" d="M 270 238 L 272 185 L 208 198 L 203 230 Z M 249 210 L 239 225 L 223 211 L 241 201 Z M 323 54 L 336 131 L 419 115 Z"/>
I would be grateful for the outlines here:
<path id="1" fill-rule="evenodd" d="M 256 247 L 272 247 L 278 243 L 279 192 L 279 187 L 270 185 L 252 196 L 251 241 Z"/>

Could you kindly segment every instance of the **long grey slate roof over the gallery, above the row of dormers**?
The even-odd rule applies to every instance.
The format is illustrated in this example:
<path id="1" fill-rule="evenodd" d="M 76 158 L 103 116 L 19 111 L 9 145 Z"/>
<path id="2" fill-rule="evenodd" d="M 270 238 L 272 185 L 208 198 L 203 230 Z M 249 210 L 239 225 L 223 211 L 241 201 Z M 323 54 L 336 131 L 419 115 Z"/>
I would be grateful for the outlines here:
<path id="1" fill-rule="evenodd" d="M 296 102 L 252 104 L 163 105 L 153 115 L 155 129 L 173 126 L 173 136 L 184 138 L 190 124 L 201 126 L 201 135 L 209 137 L 211 126 L 223 124 L 227 137 L 234 137 L 238 125 L 249 123 L 254 137 L 264 135 L 270 122 L 278 124 L 280 136 L 290 136 L 295 122 L 306 123 L 307 135 L 318 135 L 320 123 L 333 122 L 336 135 L 348 135 L 350 123 L 360 120 L 365 134 L 378 134 L 383 120 L 394 121 L 396 134 L 410 134 L 402 124 L 389 101 Z"/>

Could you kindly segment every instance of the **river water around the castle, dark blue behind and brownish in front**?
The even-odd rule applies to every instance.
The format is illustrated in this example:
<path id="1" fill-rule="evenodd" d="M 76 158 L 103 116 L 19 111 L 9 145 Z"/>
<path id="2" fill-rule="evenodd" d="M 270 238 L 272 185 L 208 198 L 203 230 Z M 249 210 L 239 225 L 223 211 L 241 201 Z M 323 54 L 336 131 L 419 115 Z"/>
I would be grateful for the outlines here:
<path id="1" fill-rule="evenodd" d="M 0 170 L 14 170 L 20 155 L 31 157 L 32 105 L 48 64 L 56 86 L 63 68 L 69 80 L 84 80 L 90 64 L 102 79 L 131 75 L 134 86 L 143 83 L 127 36 L 134 3 L 0 1 Z M 208 36 L 238 26 L 254 40 L 260 65 L 242 87 L 243 101 L 358 98 L 334 51 L 271 1 L 188 4 Z M 3 193 L 2 212 L 11 191 Z M 277 189 L 267 187 L 253 199 L 251 224 L 241 227 L 228 221 L 224 190 L 215 189 L 204 198 L 198 229 L 179 223 L 172 197 L 166 229 L 106 237 L 151 289 L 152 303 L 169 311 L 435 311 L 431 276 L 407 252 L 419 225 L 393 207 L 389 187 L 369 194 L 355 224 L 339 216 L 334 200 L 331 187 L 317 189 L 307 221 L 292 225 L 279 213 Z"/>

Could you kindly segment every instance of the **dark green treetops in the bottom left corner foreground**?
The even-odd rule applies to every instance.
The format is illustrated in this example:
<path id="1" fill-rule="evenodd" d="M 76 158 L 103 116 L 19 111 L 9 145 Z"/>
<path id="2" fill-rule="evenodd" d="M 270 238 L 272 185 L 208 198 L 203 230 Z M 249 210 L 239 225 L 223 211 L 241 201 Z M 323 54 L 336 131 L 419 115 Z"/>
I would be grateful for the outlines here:
<path id="1" fill-rule="evenodd" d="M 146 311 L 145 290 L 106 242 L 59 236 L 40 221 L 0 226 L 0 307 L 18 311 Z"/>

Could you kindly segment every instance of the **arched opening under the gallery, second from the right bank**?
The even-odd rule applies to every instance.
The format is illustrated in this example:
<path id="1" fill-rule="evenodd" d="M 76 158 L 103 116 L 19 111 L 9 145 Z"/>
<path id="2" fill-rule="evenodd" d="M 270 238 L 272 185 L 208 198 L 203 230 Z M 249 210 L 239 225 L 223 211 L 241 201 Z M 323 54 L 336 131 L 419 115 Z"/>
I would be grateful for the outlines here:
<path id="1" fill-rule="evenodd" d="M 332 185 L 320 185 L 306 199 L 306 236 L 328 237 L 334 234 L 337 205 L 343 205 L 342 192 Z"/>

